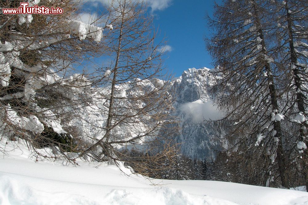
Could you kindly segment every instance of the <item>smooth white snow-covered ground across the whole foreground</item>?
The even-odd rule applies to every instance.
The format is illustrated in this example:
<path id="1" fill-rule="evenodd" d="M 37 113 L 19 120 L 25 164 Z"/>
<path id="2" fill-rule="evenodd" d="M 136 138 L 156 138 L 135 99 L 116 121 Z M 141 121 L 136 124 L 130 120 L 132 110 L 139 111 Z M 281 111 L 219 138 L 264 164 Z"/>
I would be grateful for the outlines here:
<path id="1" fill-rule="evenodd" d="M 35 162 L 25 146 L 14 143 L 0 141 L 0 150 L 6 150 L 0 159 L 1 205 L 308 205 L 308 193 L 303 191 L 146 179 L 121 166 L 122 171 L 115 165 L 81 161 L 79 166 L 46 159 Z"/>

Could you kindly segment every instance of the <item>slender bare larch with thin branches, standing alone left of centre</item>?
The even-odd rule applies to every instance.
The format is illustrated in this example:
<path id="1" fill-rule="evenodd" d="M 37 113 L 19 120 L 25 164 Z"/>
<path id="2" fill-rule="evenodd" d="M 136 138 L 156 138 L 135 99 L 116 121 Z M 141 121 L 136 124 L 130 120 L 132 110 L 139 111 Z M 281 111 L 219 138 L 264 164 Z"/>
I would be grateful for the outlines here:
<path id="1" fill-rule="evenodd" d="M 101 79 L 107 87 L 102 92 L 107 119 L 81 155 L 116 161 L 127 158 L 122 149 L 130 146 L 144 152 L 156 146 L 150 149 L 158 153 L 159 147 L 164 149 L 161 136 L 168 138 L 176 132 L 168 126 L 174 124 L 170 117 L 173 99 L 168 76 L 162 73 L 163 43 L 155 41 L 153 18 L 146 15 L 143 1 L 113 0 L 108 9 L 108 22 L 117 27 L 108 39 L 110 62 L 99 70 L 108 76 Z M 168 139 L 164 142 L 168 144 Z"/>

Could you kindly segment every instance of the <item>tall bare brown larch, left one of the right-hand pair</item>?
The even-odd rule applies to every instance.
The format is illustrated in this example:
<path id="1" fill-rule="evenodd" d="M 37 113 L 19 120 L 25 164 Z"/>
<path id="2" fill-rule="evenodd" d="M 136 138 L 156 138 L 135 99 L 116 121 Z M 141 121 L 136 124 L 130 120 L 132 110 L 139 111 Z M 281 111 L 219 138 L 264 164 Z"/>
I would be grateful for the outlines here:
<path id="1" fill-rule="evenodd" d="M 217 84 L 211 92 L 226 113 L 221 122 L 231 128 L 227 135 L 230 151 L 243 154 L 249 149 L 251 154 L 267 156 L 265 161 L 271 163 L 263 167 L 266 174 L 261 179 L 267 186 L 277 162 L 282 186 L 287 187 L 281 127 L 284 115 L 279 101 L 283 71 L 273 59 L 272 7 L 263 0 L 227 0 L 216 5 L 210 20 L 216 34 L 207 47 L 219 65 Z"/>

